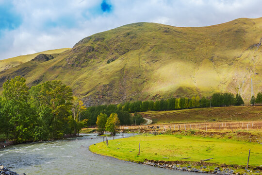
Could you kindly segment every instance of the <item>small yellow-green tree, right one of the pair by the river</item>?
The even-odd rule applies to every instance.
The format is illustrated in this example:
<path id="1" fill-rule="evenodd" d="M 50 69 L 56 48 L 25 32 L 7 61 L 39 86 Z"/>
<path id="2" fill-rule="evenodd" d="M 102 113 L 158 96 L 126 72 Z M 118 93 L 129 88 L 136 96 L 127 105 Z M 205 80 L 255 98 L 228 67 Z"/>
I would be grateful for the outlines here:
<path id="1" fill-rule="evenodd" d="M 117 117 L 116 113 L 112 113 L 110 117 L 107 119 L 105 128 L 106 131 L 109 131 L 111 133 L 111 136 L 115 136 L 116 132 L 118 131 L 118 126 L 120 124 L 120 121 Z"/>

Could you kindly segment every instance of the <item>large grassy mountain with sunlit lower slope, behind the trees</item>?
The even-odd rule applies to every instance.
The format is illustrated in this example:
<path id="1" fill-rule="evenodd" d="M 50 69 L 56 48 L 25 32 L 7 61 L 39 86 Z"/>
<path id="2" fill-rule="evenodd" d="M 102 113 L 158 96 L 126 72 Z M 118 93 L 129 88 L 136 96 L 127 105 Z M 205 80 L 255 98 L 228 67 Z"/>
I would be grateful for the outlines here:
<path id="1" fill-rule="evenodd" d="M 262 89 L 262 18 L 208 27 L 133 23 L 88 36 L 71 50 L 0 72 L 29 86 L 62 80 L 86 105 Z M 43 55 L 42 55 L 43 56 Z"/>

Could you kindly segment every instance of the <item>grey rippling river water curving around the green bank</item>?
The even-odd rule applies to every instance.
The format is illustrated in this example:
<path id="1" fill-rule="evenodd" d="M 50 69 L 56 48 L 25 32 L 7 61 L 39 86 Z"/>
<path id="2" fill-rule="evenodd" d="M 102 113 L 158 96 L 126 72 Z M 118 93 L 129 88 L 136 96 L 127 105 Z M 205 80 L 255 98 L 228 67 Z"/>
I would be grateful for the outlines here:
<path id="1" fill-rule="evenodd" d="M 126 134 L 125 136 L 130 136 Z M 120 135 L 116 136 L 120 138 Z M 89 145 L 103 141 L 95 134 L 81 138 L 45 141 L 0 149 L 0 163 L 11 171 L 27 175 L 193 175 L 195 173 L 157 168 L 89 151 Z"/>

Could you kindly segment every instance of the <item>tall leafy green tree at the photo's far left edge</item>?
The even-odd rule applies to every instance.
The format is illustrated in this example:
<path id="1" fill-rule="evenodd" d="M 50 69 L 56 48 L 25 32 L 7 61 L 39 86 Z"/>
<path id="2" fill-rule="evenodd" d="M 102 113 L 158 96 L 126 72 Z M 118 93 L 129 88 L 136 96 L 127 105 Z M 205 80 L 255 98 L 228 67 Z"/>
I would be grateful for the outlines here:
<path id="1" fill-rule="evenodd" d="M 29 103 L 29 92 L 23 77 L 16 76 L 3 84 L 2 117 L 7 138 L 16 142 L 32 140 L 36 115 Z"/>

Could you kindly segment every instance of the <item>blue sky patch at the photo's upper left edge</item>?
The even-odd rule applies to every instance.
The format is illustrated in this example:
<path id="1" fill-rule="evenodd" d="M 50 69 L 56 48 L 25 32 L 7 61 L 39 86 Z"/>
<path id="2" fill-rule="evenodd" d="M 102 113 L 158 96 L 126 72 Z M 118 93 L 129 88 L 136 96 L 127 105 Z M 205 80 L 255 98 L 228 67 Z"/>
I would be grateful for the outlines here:
<path id="1" fill-rule="evenodd" d="M 22 18 L 10 2 L 0 3 L 0 31 L 14 30 L 22 24 Z"/>

